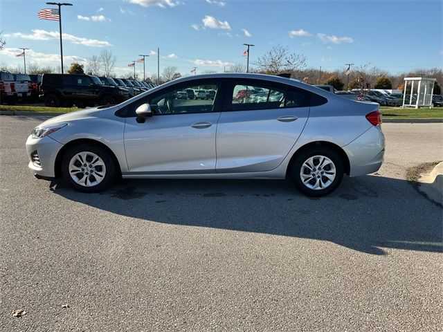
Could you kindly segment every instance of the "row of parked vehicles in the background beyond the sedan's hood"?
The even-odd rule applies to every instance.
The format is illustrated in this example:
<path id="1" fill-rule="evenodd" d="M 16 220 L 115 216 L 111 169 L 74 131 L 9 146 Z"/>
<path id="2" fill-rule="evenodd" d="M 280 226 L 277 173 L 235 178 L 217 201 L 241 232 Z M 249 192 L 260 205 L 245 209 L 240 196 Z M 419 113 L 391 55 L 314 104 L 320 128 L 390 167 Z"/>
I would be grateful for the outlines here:
<path id="1" fill-rule="evenodd" d="M 85 74 L 26 75 L 0 72 L 0 102 L 43 101 L 48 107 L 87 107 L 116 104 L 154 88 L 125 78 Z"/>

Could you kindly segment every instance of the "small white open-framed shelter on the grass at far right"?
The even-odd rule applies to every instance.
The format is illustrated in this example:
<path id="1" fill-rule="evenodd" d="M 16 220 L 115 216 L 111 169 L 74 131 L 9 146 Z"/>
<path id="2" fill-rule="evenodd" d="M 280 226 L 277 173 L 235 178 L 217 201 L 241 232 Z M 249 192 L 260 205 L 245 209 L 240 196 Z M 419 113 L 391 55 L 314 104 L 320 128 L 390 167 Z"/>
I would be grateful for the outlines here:
<path id="1" fill-rule="evenodd" d="M 432 107 L 435 78 L 404 77 L 402 107 Z"/>

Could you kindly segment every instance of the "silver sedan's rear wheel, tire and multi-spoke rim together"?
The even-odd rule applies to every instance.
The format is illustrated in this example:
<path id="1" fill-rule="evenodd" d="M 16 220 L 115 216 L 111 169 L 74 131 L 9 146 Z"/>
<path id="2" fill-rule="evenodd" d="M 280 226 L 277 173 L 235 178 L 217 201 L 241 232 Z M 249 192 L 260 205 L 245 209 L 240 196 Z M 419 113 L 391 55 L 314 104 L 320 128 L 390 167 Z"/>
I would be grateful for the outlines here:
<path id="1" fill-rule="evenodd" d="M 337 189 L 343 173 L 343 160 L 336 151 L 318 147 L 297 156 L 292 165 L 291 179 L 302 194 L 320 197 Z"/>

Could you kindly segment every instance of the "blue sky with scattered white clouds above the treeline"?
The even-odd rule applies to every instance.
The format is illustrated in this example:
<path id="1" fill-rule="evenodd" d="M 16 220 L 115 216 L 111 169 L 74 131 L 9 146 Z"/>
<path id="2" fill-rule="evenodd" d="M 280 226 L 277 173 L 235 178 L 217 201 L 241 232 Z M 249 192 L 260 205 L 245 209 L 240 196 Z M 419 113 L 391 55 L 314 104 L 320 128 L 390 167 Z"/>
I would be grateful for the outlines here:
<path id="1" fill-rule="evenodd" d="M 58 22 L 39 20 L 46 1 L 1 0 L 6 48 L 0 63 L 22 65 L 19 47 L 30 48 L 27 62 L 60 64 Z M 250 62 L 275 45 L 307 57 L 307 66 L 344 69 L 347 62 L 398 73 L 442 67 L 443 1 L 230 1 L 230 0 L 73 0 L 62 8 L 64 62 L 84 61 L 101 50 L 116 55 L 117 75 L 138 54 L 147 58 L 147 76 L 177 66 L 182 74 L 223 71 Z M 246 31 L 246 32 L 245 32 Z M 19 52 L 18 52 L 19 53 Z M 252 65 L 253 66 L 253 65 Z M 137 64 L 138 73 L 143 65 Z M 227 68 L 228 69 L 228 68 Z"/>

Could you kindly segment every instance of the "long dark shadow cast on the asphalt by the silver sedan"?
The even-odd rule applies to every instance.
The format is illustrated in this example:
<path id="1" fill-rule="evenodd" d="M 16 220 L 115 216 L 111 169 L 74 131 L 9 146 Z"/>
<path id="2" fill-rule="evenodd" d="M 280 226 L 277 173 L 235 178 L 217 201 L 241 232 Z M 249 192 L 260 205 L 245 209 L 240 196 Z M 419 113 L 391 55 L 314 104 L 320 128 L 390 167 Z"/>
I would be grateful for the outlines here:
<path id="1" fill-rule="evenodd" d="M 331 241 L 373 255 L 386 255 L 383 248 L 443 251 L 442 209 L 408 181 L 377 175 L 344 178 L 319 199 L 287 181 L 126 180 L 100 194 L 57 181 L 51 190 L 146 222 Z"/>

